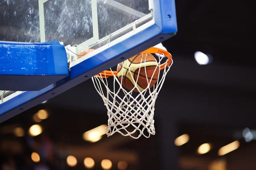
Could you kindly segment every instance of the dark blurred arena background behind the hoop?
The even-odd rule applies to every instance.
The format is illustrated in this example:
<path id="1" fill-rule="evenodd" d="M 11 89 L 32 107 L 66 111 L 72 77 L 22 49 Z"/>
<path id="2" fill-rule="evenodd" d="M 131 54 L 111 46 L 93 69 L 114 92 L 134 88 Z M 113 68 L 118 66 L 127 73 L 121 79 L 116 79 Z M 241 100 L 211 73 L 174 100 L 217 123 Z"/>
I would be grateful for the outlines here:
<path id="1" fill-rule="evenodd" d="M 256 128 L 253 5 L 236 0 L 177 0 L 176 11 L 178 33 L 163 42 L 174 65 L 157 98 L 155 136 L 134 140 L 116 134 L 96 143 L 85 142 L 82 134 L 107 124 L 108 119 L 102 99 L 88 80 L 3 122 L 0 162 L 13 160 L 17 169 L 35 167 L 38 164 L 30 158 L 35 150 L 29 143 L 47 139 L 53 146 L 49 149 L 53 161 L 43 163 L 50 169 L 85 169 L 84 158 L 96 152 L 95 170 L 110 155 L 113 170 L 121 159 L 128 162 L 128 170 L 216 170 L 210 166 L 214 161 L 224 162 L 225 170 L 255 170 L 256 141 L 245 142 L 241 136 L 245 127 Z M 210 54 L 212 63 L 198 65 L 195 51 Z M 35 124 L 32 116 L 40 109 L 49 112 L 49 118 L 39 123 L 44 128 L 41 135 L 31 139 L 27 134 L 17 138 L 3 133 L 11 126 L 27 133 Z M 175 138 L 184 133 L 189 134 L 189 142 L 176 147 Z M 240 142 L 238 150 L 218 156 L 220 147 L 235 140 Z M 3 147 L 6 142 L 11 147 Z M 206 142 L 212 150 L 198 155 L 198 146 Z M 136 161 L 122 156 L 125 153 Z M 67 166 L 68 155 L 77 158 L 76 167 Z"/>

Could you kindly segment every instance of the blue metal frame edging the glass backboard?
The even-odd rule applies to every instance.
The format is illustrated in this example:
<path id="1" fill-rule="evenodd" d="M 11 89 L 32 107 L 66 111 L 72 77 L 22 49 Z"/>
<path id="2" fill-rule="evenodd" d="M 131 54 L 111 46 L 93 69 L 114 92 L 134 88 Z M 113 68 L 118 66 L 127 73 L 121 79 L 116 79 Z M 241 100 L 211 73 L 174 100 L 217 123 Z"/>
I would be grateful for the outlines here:
<path id="1" fill-rule="evenodd" d="M 177 32 L 175 0 L 153 0 L 153 3 L 154 25 L 73 66 L 69 77 L 41 91 L 26 91 L 4 102 L 0 105 L 0 122 L 61 94 L 122 60 L 174 36 Z"/>

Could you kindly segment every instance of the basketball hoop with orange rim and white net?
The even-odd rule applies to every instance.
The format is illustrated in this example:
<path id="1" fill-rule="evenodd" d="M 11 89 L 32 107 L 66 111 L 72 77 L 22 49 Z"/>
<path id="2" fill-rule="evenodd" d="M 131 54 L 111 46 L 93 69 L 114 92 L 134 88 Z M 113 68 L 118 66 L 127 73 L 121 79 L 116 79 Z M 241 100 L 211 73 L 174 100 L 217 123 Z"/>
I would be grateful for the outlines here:
<path id="1" fill-rule="evenodd" d="M 137 87 L 138 78 L 133 78 L 134 88 L 127 90 L 123 87 L 122 80 L 119 81 L 117 71 L 112 71 L 111 68 L 92 77 L 93 84 L 108 110 L 108 127 L 106 127 L 108 136 L 118 132 L 123 136 L 138 139 L 142 135 L 149 138 L 150 135 L 155 134 L 154 105 L 173 60 L 169 52 L 160 48 L 152 47 L 140 54 L 147 55 L 148 53 L 159 54 L 156 69 L 159 69 L 160 72 L 157 82 L 152 88 L 149 88 L 152 77 L 147 77 L 149 79 L 147 82 L 148 88 L 143 91 L 140 91 Z M 165 57 L 160 57 L 161 54 Z M 143 62 L 145 61 L 141 59 L 140 65 Z M 124 67 L 124 64 L 122 64 L 122 67 Z M 131 74 L 129 67 L 127 70 Z M 113 79 L 110 77 L 113 77 Z M 111 81 L 108 82 L 108 80 Z M 138 89 L 138 92 L 135 92 L 134 89 Z"/>

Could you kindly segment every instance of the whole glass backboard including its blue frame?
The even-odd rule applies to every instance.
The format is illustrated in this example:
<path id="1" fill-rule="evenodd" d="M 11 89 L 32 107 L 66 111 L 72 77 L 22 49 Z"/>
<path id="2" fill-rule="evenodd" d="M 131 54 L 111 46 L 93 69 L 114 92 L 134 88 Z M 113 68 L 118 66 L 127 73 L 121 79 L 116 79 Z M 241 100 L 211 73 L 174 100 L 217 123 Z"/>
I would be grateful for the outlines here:
<path id="1" fill-rule="evenodd" d="M 0 91 L 0 122 L 177 32 L 174 0 L 0 0 L 0 40 L 59 41 L 76 54 L 67 78 L 40 91 Z M 43 80 L 42 80 L 43 81 Z"/>

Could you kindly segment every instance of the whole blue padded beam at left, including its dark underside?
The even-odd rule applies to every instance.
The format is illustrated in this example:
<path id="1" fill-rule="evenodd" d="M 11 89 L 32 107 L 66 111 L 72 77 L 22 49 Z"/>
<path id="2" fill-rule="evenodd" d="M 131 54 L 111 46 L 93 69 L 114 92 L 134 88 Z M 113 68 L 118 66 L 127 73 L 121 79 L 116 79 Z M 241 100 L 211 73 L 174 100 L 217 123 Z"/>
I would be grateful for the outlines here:
<path id="1" fill-rule="evenodd" d="M 59 42 L 0 41 L 0 90 L 39 91 L 67 76 L 67 53 Z"/>

